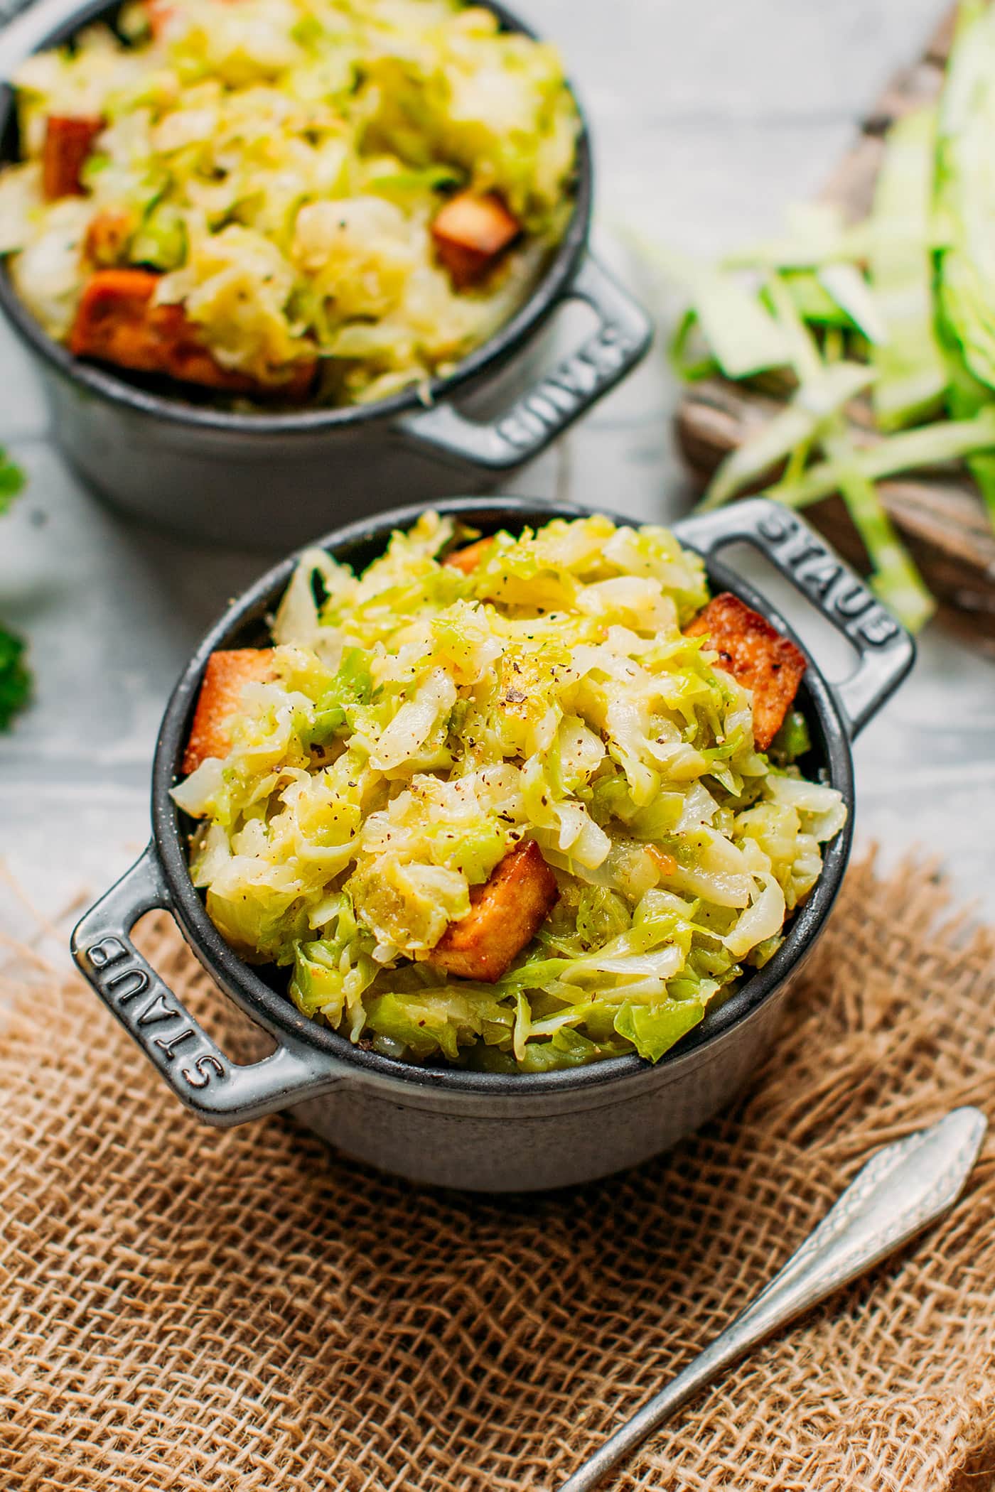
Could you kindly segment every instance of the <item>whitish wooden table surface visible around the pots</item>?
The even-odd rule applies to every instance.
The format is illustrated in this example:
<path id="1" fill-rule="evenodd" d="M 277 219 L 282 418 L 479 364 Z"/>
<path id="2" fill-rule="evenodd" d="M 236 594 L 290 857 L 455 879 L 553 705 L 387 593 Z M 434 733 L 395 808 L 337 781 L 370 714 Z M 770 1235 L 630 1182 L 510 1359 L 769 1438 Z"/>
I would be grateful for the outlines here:
<path id="1" fill-rule="evenodd" d="M 600 240 L 613 225 L 715 254 L 770 231 L 812 194 L 859 110 L 919 51 L 938 0 L 522 0 L 555 37 L 586 104 Z M 1 40 L 1 39 L 0 39 Z M 607 398 L 564 452 L 509 483 L 668 521 L 688 503 L 662 357 Z M 103 891 L 148 837 L 160 713 L 191 645 L 266 564 L 131 527 L 52 446 L 31 369 L 0 328 L 0 442 L 30 488 L 0 524 L 0 618 L 31 639 L 37 694 L 0 737 L 0 856 L 57 915 Z M 564 464 L 565 463 L 565 464 Z M 404 500 L 404 492 L 397 492 Z M 330 498 L 328 527 L 342 510 Z M 889 859 L 938 855 L 995 915 L 995 670 L 932 628 L 911 682 L 865 731 L 858 834 Z M 0 892 L 0 921 L 25 913 Z"/>

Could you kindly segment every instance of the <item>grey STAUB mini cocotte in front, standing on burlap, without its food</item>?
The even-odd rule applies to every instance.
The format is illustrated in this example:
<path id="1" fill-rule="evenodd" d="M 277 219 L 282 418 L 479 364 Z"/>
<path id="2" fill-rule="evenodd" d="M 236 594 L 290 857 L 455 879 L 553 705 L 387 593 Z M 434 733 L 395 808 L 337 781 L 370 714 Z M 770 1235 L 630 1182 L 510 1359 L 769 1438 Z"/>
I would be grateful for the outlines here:
<path id="1" fill-rule="evenodd" d="M 591 512 L 516 498 L 451 500 L 437 507 L 485 534 Z M 391 530 L 409 527 L 419 512 L 404 507 L 352 524 L 321 548 L 362 568 L 383 551 Z M 656 1065 L 631 1055 L 553 1073 L 418 1067 L 352 1046 L 301 1016 L 276 980 L 267 982 L 245 964 L 207 918 L 186 868 L 192 825 L 169 795 L 209 655 L 218 648 L 269 643 L 267 616 L 292 574 L 291 557 L 231 606 L 191 658 L 166 709 L 155 752 L 152 841 L 73 934 L 82 973 L 188 1109 L 215 1125 L 286 1109 L 346 1153 L 386 1171 L 471 1191 L 536 1191 L 607 1176 L 667 1149 L 750 1077 L 846 868 L 853 816 L 850 742 L 903 680 L 914 646 L 803 519 L 767 500 L 685 519 L 674 533 L 706 558 L 713 588 L 734 591 L 794 637 L 783 618 L 716 558 L 728 543 L 752 543 L 859 653 L 856 671 L 841 685 L 828 683 L 806 653 L 800 703 L 813 740 L 806 765 L 840 789 L 849 816 L 825 846 L 822 876 L 771 961 Z M 173 913 L 216 985 L 276 1040 L 270 1056 L 234 1065 L 137 952 L 130 931 L 157 907 Z"/>

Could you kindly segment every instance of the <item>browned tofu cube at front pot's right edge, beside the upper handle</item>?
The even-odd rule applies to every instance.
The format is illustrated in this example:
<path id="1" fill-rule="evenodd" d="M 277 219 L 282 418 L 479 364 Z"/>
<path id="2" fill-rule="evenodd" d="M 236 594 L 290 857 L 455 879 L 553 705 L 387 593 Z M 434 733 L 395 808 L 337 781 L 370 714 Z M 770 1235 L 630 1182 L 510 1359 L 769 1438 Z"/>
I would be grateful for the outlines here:
<path id="1" fill-rule="evenodd" d="M 753 740 L 767 750 L 785 724 L 806 671 L 804 655 L 758 612 L 724 591 L 685 627 L 688 637 L 709 636 L 719 667 L 753 691 Z"/>

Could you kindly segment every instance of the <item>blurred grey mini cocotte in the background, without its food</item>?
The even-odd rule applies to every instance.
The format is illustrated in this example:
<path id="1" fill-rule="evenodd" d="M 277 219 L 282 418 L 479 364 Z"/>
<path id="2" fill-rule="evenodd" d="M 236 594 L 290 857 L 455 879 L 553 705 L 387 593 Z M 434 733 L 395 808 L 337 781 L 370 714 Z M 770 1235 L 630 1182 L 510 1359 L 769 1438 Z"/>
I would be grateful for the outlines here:
<path id="1" fill-rule="evenodd" d="M 64 45 L 94 21 L 113 22 L 119 9 L 119 0 L 67 3 L 66 19 L 40 36 L 37 27 L 25 33 L 24 46 L 0 39 L 0 76 L 28 51 Z M 489 9 L 506 30 L 533 34 L 501 4 Z M 12 91 L 0 87 L 0 164 L 18 155 Z M 434 379 L 430 395 L 412 388 L 342 409 L 230 410 L 161 379 L 79 361 L 21 303 L 3 260 L 0 306 L 34 355 L 64 455 L 109 501 L 182 534 L 285 549 L 330 521 L 380 510 L 385 492 L 401 489 L 415 501 L 486 491 L 640 361 L 650 322 L 588 248 L 592 166 L 583 115 L 573 195 L 567 231 L 533 294 L 452 376 Z M 540 376 L 533 366 L 539 334 L 571 300 L 586 301 L 597 330 Z M 485 401 L 486 415 L 461 413 L 455 400 L 464 395 Z"/>

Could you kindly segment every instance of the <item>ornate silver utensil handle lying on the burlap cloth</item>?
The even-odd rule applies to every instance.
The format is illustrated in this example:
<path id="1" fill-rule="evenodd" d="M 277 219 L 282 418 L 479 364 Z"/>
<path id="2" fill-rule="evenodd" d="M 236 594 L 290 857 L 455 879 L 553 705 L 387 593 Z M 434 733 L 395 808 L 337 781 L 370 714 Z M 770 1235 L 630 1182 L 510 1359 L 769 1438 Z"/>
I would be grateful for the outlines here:
<path id="1" fill-rule="evenodd" d="M 616 1429 L 567 1477 L 559 1492 L 591 1492 L 729 1362 L 870 1270 L 952 1207 L 986 1128 L 980 1109 L 955 1109 L 928 1129 L 879 1150 L 753 1304 Z"/>

